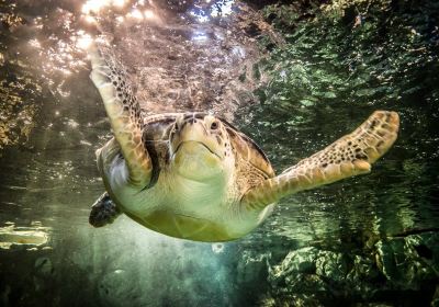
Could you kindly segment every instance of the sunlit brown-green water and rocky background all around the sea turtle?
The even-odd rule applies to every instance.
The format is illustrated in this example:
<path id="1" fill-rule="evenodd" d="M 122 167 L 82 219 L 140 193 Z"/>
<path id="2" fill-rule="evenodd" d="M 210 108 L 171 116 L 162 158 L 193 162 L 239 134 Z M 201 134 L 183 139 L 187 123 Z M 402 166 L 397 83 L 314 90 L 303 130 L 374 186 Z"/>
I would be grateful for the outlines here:
<path id="1" fill-rule="evenodd" d="M 224 113 L 278 172 L 374 110 L 399 113 L 399 138 L 371 174 L 288 197 L 224 245 L 126 217 L 88 225 L 103 191 L 94 150 L 111 135 L 81 48 L 99 32 L 85 2 L 0 2 L 0 306 L 439 304 L 435 1 L 230 12 L 233 1 L 133 1 L 102 13 L 148 112 Z M 170 13 L 117 26 L 135 5 Z M 205 19 L 213 8 L 224 15 Z"/>

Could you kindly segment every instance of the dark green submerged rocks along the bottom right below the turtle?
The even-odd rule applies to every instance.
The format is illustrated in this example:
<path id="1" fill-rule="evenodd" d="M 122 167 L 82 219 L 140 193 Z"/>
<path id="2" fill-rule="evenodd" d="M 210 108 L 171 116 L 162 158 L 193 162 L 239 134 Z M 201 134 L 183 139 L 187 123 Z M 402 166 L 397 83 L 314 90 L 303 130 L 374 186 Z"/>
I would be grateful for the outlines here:
<path id="1" fill-rule="evenodd" d="M 270 263 L 270 254 L 247 253 L 238 283 L 267 276 L 255 293 L 262 306 L 436 306 L 438 263 L 439 235 L 424 232 L 381 239 L 361 254 L 305 247 Z"/>

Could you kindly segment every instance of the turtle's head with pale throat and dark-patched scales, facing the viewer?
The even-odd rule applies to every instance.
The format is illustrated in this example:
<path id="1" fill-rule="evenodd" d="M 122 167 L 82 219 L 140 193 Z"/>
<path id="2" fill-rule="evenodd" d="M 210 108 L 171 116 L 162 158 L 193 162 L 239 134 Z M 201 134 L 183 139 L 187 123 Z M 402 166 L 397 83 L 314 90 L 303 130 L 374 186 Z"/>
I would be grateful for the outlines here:
<path id="1" fill-rule="evenodd" d="M 235 157 L 222 121 L 206 113 L 180 115 L 170 133 L 171 167 L 188 179 L 230 175 Z"/>

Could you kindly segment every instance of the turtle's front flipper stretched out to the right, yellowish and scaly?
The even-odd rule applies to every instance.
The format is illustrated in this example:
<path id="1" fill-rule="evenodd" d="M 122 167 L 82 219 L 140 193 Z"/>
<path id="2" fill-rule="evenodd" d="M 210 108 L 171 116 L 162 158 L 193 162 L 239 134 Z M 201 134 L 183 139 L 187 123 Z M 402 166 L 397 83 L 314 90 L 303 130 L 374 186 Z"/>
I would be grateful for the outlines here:
<path id="1" fill-rule="evenodd" d="M 351 134 L 249 190 L 241 202 L 247 209 L 263 209 L 283 196 L 368 173 L 392 147 L 398 127 L 397 113 L 376 111 Z"/>

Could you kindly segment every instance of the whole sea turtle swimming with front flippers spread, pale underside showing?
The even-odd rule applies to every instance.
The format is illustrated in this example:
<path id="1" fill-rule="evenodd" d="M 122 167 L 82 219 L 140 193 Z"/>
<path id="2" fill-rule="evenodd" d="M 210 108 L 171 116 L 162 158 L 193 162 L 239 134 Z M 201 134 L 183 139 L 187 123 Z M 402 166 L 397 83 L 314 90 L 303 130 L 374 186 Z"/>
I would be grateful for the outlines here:
<path id="1" fill-rule="evenodd" d="M 397 113 L 375 111 L 351 134 L 275 175 L 258 145 L 218 116 L 143 116 L 111 47 L 95 42 L 89 53 L 90 78 L 114 134 L 97 150 L 106 192 L 91 209 L 95 227 L 124 213 L 171 237 L 234 240 L 260 225 L 281 197 L 370 172 L 397 137 Z"/>

